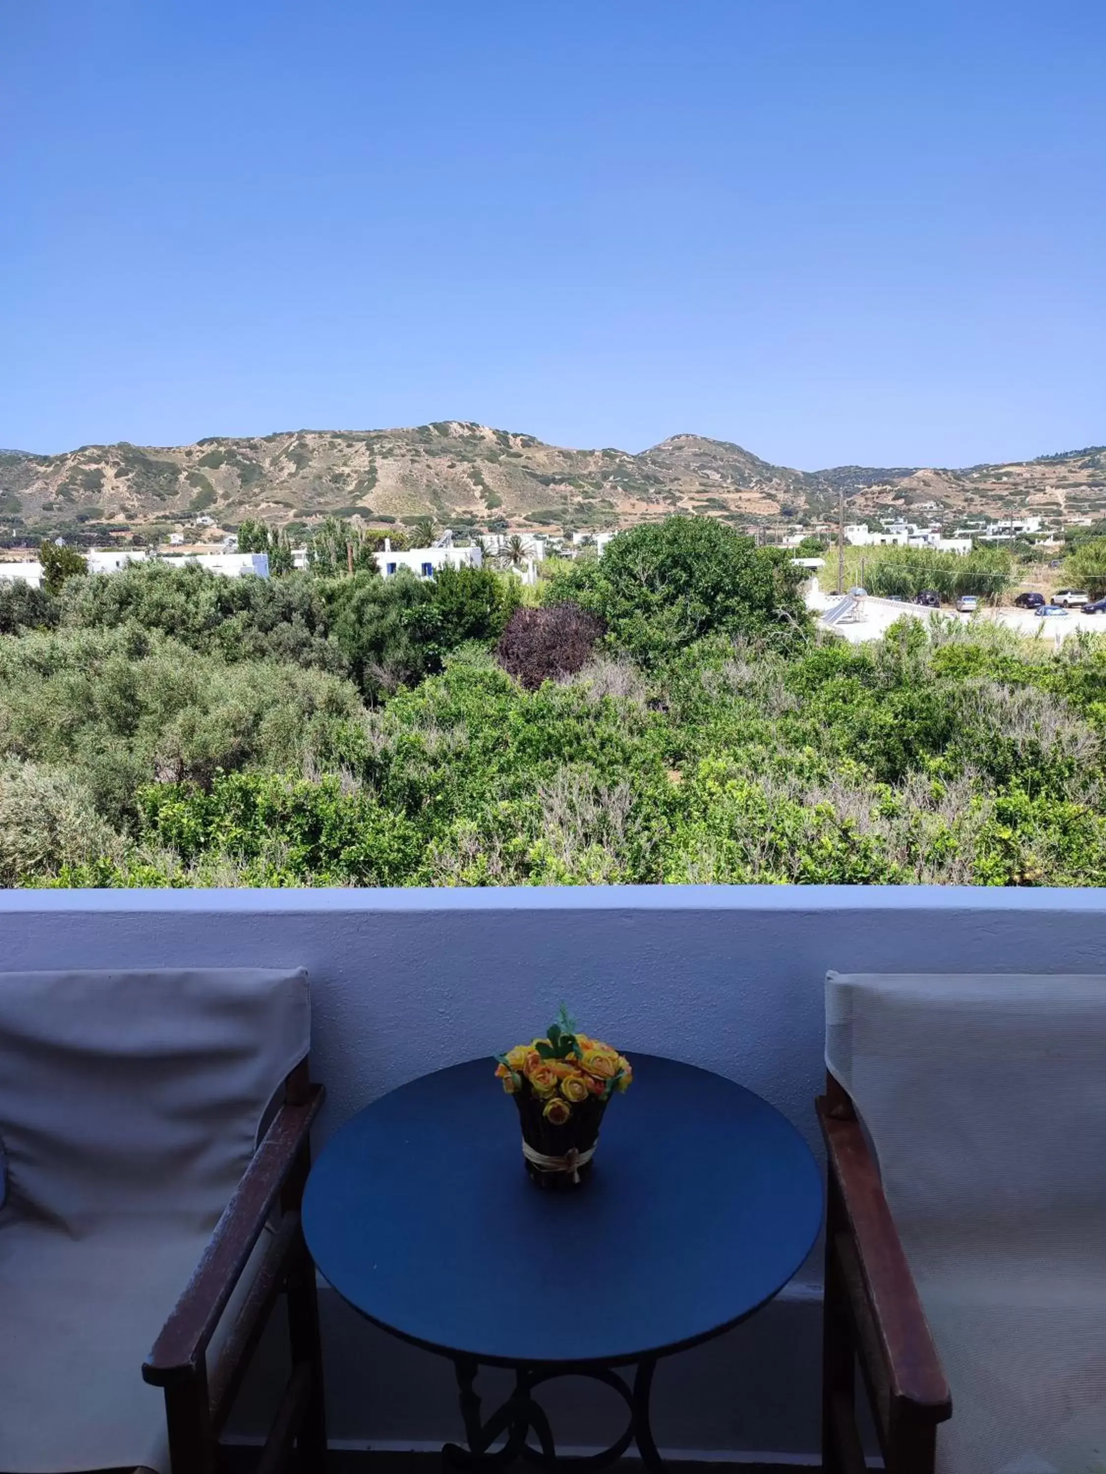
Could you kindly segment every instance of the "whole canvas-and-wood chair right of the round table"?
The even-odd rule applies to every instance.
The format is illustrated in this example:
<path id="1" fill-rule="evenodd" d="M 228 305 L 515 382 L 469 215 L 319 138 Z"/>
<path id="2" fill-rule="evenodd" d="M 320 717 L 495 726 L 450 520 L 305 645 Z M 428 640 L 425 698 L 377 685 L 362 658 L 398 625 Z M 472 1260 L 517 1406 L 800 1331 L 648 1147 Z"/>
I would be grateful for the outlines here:
<path id="1" fill-rule="evenodd" d="M 857 1366 L 889 1474 L 1100 1467 L 1103 1060 L 1103 976 L 829 974 L 826 1474 Z"/>

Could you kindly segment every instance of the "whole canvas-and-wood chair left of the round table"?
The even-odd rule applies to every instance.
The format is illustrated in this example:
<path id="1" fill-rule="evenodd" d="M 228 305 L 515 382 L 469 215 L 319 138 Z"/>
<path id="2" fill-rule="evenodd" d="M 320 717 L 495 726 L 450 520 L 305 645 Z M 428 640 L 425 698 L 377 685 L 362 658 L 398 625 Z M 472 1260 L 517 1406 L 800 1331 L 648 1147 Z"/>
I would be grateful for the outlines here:
<path id="1" fill-rule="evenodd" d="M 308 1010 L 302 970 L 0 973 L 0 1468 L 217 1474 L 283 1294 L 258 1470 L 323 1474 Z"/>

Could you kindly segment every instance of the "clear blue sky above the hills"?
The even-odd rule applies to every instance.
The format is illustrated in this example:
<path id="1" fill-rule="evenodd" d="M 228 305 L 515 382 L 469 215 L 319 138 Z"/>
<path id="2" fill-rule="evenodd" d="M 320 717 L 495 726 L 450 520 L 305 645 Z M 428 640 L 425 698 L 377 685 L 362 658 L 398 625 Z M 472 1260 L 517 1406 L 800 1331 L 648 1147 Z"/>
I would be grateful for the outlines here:
<path id="1" fill-rule="evenodd" d="M 0 445 L 1106 442 L 1103 0 L 0 0 Z"/>

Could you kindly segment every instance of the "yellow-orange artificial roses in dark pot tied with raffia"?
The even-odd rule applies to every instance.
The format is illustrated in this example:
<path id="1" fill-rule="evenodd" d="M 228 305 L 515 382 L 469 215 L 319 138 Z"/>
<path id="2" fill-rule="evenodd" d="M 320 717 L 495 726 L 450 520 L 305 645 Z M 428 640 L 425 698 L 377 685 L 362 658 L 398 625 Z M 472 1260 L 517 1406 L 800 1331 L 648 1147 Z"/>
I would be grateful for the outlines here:
<path id="1" fill-rule="evenodd" d="M 518 1044 L 495 1060 L 495 1075 L 519 1108 L 531 1179 L 540 1187 L 577 1187 L 591 1170 L 608 1101 L 634 1077 L 630 1061 L 580 1033 L 563 1004 L 544 1039 Z"/>

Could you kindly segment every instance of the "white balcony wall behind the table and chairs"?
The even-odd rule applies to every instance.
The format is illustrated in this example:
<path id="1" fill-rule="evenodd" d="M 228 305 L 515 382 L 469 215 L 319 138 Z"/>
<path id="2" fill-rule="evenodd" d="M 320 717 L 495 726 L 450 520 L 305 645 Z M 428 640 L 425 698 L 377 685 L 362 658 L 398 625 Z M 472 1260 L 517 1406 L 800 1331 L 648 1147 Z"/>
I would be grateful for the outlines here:
<path id="1" fill-rule="evenodd" d="M 1106 892 L 9 890 L 0 955 L 4 968 L 302 964 L 313 1069 L 329 1092 L 320 1145 L 383 1091 L 531 1038 L 562 999 L 631 1057 L 669 1054 L 740 1080 L 815 1144 L 827 968 L 1097 971 Z M 633 1110 L 633 1100 L 616 1108 Z M 813 1259 L 746 1325 L 664 1363 L 661 1445 L 813 1461 L 817 1297 Z M 459 1437 L 448 1363 L 372 1330 L 332 1291 L 321 1299 L 335 1442 L 432 1447 Z M 261 1396 L 255 1387 L 246 1399 L 243 1437 L 260 1427 Z M 621 1428 L 609 1394 L 581 1383 L 554 1386 L 549 1406 L 571 1446 L 594 1447 Z"/>

